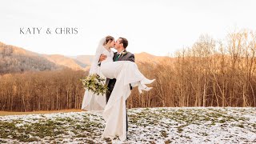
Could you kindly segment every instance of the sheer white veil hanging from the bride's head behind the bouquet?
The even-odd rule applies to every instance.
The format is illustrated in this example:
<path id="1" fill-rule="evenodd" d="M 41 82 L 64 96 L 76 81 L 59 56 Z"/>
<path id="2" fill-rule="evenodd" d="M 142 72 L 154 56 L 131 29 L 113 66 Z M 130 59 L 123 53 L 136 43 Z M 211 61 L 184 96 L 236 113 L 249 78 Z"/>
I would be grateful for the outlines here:
<path id="1" fill-rule="evenodd" d="M 104 50 L 103 44 L 106 42 L 106 38 L 102 38 L 98 42 L 98 47 L 96 53 L 94 55 L 94 59 L 90 66 L 89 74 L 98 74 L 102 78 L 105 78 L 100 71 L 100 66 L 98 66 L 98 60 Z M 106 79 L 106 78 L 105 78 Z M 105 94 L 94 94 L 93 92 L 86 90 L 83 101 L 82 101 L 82 109 L 83 110 L 104 110 L 106 106 L 106 96 Z"/>

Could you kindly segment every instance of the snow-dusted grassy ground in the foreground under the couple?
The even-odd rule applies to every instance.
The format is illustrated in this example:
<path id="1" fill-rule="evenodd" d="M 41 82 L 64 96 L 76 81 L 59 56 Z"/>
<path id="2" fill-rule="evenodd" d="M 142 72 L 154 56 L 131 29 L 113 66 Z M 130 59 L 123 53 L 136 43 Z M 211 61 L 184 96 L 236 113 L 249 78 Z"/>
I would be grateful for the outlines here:
<path id="1" fill-rule="evenodd" d="M 128 110 L 128 138 L 101 138 L 101 112 L 0 117 L 0 143 L 256 143 L 256 108 Z"/>

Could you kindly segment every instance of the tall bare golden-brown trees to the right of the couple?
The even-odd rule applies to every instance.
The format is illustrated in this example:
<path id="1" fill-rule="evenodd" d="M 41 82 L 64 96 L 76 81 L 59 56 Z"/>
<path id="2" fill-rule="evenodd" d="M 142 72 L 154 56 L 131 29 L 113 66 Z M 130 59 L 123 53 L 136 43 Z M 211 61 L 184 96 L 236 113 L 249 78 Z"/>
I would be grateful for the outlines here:
<path id="1" fill-rule="evenodd" d="M 255 52 L 251 30 L 218 41 L 202 35 L 174 58 L 140 64 L 143 74 L 157 81 L 149 93 L 134 91 L 129 106 L 256 106 Z"/>

